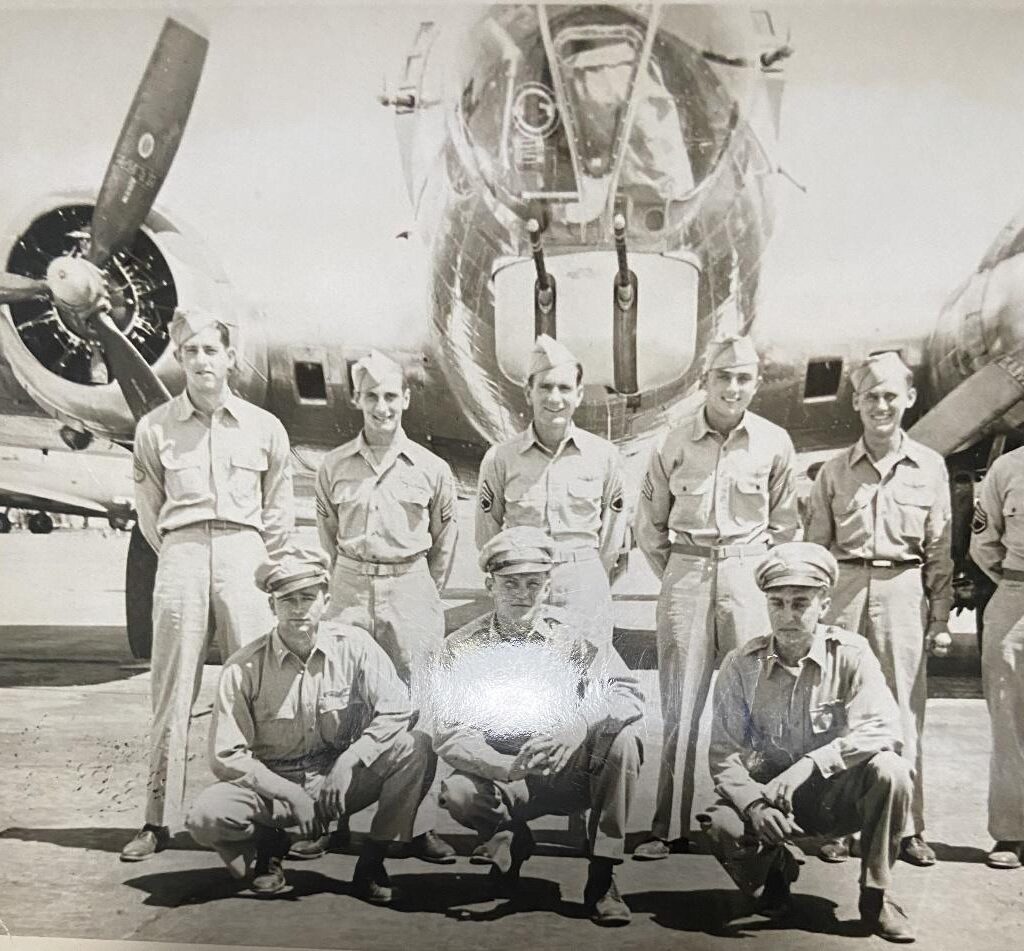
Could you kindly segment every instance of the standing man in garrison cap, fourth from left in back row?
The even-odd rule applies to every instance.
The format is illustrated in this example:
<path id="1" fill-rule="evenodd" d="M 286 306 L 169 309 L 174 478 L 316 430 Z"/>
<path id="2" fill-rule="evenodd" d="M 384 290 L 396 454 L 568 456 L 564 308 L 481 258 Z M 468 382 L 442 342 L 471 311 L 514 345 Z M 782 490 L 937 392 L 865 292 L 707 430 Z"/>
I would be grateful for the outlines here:
<path id="1" fill-rule="evenodd" d="M 715 660 L 768 630 L 754 569 L 769 545 L 800 532 L 793 441 L 746 408 L 758 383 L 749 338 L 714 341 L 707 400 L 666 435 L 641 489 L 637 544 L 662 579 L 665 732 L 651 837 L 636 859 L 688 850 L 697 734 Z"/>

